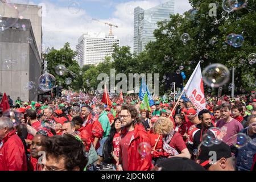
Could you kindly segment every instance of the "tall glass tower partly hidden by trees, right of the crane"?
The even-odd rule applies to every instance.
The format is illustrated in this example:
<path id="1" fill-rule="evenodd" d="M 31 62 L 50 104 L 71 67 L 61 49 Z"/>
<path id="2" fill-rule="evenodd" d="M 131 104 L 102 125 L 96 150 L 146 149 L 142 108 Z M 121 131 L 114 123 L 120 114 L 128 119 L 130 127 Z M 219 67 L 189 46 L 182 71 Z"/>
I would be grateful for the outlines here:
<path id="1" fill-rule="evenodd" d="M 142 52 L 149 42 L 155 41 L 157 22 L 170 20 L 170 14 L 174 14 L 174 2 L 171 0 L 148 10 L 139 6 L 134 9 L 134 53 Z"/>

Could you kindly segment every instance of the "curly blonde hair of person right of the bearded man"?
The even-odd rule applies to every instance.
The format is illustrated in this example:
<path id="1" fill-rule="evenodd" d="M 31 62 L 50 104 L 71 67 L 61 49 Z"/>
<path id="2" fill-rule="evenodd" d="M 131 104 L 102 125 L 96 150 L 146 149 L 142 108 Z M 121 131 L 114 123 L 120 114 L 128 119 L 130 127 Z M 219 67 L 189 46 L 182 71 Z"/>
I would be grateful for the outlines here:
<path id="1" fill-rule="evenodd" d="M 174 129 L 172 121 L 166 117 L 160 117 L 156 120 L 153 126 L 153 131 L 156 134 L 168 135 Z"/>

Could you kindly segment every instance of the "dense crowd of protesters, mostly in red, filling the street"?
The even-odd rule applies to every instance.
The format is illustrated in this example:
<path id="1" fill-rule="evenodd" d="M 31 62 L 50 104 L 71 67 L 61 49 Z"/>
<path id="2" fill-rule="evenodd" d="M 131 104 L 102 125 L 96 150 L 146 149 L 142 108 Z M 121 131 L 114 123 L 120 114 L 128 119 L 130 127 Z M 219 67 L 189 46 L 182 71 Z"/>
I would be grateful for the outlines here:
<path id="1" fill-rule="evenodd" d="M 159 98 L 148 111 L 138 96 L 113 97 L 111 105 L 94 97 L 9 97 L 0 113 L 0 170 L 255 170 L 254 94 L 209 96 L 201 111 L 187 98 L 175 109 Z"/>

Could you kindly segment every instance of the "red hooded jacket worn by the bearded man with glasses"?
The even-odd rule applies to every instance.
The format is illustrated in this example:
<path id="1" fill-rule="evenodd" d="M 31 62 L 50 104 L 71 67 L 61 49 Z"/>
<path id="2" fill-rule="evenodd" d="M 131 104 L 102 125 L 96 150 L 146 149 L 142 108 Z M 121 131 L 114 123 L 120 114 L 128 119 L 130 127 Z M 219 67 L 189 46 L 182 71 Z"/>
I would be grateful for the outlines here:
<path id="1" fill-rule="evenodd" d="M 122 130 L 122 134 L 127 132 L 126 128 Z M 142 142 L 150 143 L 146 130 L 142 124 L 135 125 L 133 137 L 128 148 L 128 171 L 150 171 L 153 167 L 151 155 L 142 157 L 139 154 L 138 147 Z M 122 148 L 120 147 L 119 158 L 122 159 Z M 119 160 L 119 164 L 122 161 Z"/>

